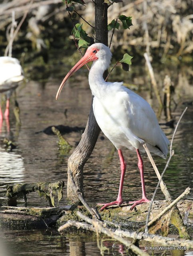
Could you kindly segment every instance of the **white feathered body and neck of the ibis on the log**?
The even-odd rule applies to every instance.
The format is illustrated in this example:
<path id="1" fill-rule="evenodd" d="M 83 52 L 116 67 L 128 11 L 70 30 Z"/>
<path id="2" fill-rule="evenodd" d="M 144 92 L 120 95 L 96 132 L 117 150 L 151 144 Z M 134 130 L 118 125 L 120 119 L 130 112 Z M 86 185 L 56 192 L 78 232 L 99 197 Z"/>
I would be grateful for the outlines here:
<path id="1" fill-rule="evenodd" d="M 94 61 L 89 73 L 94 115 L 102 132 L 117 149 L 137 148 L 144 152 L 146 143 L 151 152 L 166 158 L 169 140 L 153 109 L 141 96 L 122 86 L 122 82 L 105 82 L 104 65 L 101 60 Z"/>

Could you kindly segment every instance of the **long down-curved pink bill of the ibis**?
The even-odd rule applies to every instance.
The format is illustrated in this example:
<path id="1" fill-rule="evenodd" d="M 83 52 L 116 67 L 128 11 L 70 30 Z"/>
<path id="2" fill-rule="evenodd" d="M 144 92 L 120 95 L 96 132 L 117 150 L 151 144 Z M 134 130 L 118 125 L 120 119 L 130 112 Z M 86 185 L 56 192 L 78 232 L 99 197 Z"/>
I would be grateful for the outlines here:
<path id="1" fill-rule="evenodd" d="M 58 92 L 56 94 L 56 100 L 58 100 L 58 97 L 60 95 L 60 92 L 62 90 L 62 87 L 64 86 L 65 82 L 68 80 L 68 78 L 70 78 L 70 76 L 72 76 L 72 74 L 74 72 L 76 72 L 79 68 L 81 68 L 82 66 L 84 66 L 84 64 L 90 62 L 92 59 L 92 56 L 87 56 L 86 54 L 76 63 L 76 65 L 74 65 L 74 67 L 68 72 L 68 74 L 65 76 L 65 78 L 63 79 L 62 83 L 60 84 L 60 87 L 58 89 Z"/>

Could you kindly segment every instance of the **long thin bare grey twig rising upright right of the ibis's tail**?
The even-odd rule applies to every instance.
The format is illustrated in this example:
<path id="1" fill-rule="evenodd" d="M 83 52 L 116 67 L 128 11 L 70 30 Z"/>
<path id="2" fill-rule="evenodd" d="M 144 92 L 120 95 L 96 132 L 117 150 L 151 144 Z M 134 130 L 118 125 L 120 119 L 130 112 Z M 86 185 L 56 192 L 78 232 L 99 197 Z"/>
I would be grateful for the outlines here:
<path id="1" fill-rule="evenodd" d="M 145 232 L 148 232 L 149 216 L 150 216 L 151 207 L 152 207 L 153 200 L 154 200 L 154 198 L 155 198 L 157 189 L 159 188 L 159 184 L 160 184 L 160 182 L 162 181 L 163 175 L 164 175 L 164 173 L 165 173 L 165 171 L 166 171 L 166 169 L 167 169 L 167 167 L 168 167 L 168 165 L 169 165 L 169 162 L 170 162 L 172 156 L 174 155 L 174 151 L 172 150 L 173 140 L 174 140 L 175 134 L 176 134 L 176 132 L 177 132 L 177 128 L 178 128 L 178 126 L 179 126 L 179 123 L 180 123 L 180 121 L 181 121 L 183 115 L 185 114 L 186 110 L 187 110 L 187 107 L 186 107 L 185 110 L 182 112 L 182 114 L 181 114 L 181 116 L 180 116 L 180 118 L 179 118 L 179 120 L 178 120 L 178 122 L 177 122 L 177 125 L 176 125 L 176 127 L 175 127 L 175 130 L 174 130 L 174 132 L 173 132 L 173 136 L 172 136 L 171 143 L 170 143 L 170 149 L 169 149 L 169 158 L 168 158 L 168 160 L 167 160 L 167 163 L 166 163 L 166 165 L 165 165 L 165 168 L 164 168 L 164 170 L 163 170 L 163 172 L 162 172 L 162 174 L 161 174 L 161 179 L 160 179 L 159 182 L 157 183 L 157 186 L 156 186 L 155 191 L 154 191 L 154 193 L 153 193 L 153 196 L 152 196 L 152 198 L 151 198 L 151 202 L 150 202 L 150 204 L 149 204 L 149 210 L 148 210 L 148 214 L 147 214 L 147 218 L 146 218 L 146 222 L 145 222 Z"/>

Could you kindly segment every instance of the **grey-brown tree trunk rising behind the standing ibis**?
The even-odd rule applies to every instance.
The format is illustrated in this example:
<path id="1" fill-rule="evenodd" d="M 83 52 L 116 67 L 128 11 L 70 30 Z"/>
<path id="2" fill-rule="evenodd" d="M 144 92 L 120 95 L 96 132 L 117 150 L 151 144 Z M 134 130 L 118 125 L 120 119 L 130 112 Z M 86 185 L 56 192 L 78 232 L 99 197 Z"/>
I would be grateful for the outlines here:
<path id="1" fill-rule="evenodd" d="M 101 42 L 105 45 L 108 45 L 107 4 L 103 3 L 103 1 L 101 0 L 95 0 L 95 31 L 96 42 Z M 93 108 L 91 104 L 88 122 L 84 134 L 82 134 L 80 143 L 68 159 L 68 169 L 72 171 L 76 186 L 78 187 L 80 192 L 82 192 L 83 195 L 84 164 L 86 163 L 94 149 L 99 132 L 100 128 L 94 117 Z M 70 204 L 80 203 L 76 192 L 72 188 L 69 176 L 67 182 L 67 200 Z"/>

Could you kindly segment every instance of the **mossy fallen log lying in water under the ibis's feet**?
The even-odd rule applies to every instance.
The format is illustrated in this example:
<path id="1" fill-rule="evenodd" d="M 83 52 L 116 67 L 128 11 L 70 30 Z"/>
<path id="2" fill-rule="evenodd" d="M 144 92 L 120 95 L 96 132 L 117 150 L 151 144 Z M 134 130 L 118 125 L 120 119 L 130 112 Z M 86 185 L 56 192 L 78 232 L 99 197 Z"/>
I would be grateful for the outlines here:
<path id="1" fill-rule="evenodd" d="M 153 203 L 150 219 L 157 216 L 165 207 L 165 200 L 158 200 Z M 184 224 L 193 234 L 193 202 L 191 200 L 182 200 L 177 204 Z M 130 206 L 114 207 L 100 212 L 103 220 L 114 222 L 128 230 L 137 230 L 144 225 L 149 203 L 136 206 L 135 210 L 130 211 Z M 66 223 L 68 220 L 82 221 L 76 215 L 77 210 L 91 216 L 84 206 L 62 206 L 49 208 L 32 207 L 0 207 L 0 226 L 9 226 L 12 228 L 45 228 L 46 225 L 56 224 L 58 226 Z M 176 229 L 170 226 L 170 232 L 177 233 Z"/>

